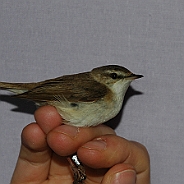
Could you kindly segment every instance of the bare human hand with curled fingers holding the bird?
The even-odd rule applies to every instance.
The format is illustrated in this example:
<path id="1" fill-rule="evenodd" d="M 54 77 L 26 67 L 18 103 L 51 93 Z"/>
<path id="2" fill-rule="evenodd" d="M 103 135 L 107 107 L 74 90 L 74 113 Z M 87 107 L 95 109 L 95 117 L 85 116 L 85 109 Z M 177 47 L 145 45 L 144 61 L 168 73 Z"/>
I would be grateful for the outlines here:
<path id="1" fill-rule="evenodd" d="M 11 184 L 71 184 L 66 156 L 77 152 L 85 165 L 85 184 L 150 184 L 146 148 L 105 126 L 76 128 L 62 123 L 52 106 L 35 112 L 22 131 L 22 145 Z"/>

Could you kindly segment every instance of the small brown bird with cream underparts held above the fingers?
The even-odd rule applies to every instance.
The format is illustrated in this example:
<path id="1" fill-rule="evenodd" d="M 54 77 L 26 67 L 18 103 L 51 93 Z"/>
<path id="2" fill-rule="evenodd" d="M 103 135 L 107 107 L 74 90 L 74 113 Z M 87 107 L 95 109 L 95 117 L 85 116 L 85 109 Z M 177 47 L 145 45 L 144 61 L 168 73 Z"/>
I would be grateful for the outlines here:
<path id="1" fill-rule="evenodd" d="M 0 82 L 0 89 L 15 93 L 13 97 L 34 101 L 38 106 L 54 106 L 65 124 L 90 127 L 115 117 L 130 83 L 141 77 L 125 67 L 105 65 L 41 82 Z"/>

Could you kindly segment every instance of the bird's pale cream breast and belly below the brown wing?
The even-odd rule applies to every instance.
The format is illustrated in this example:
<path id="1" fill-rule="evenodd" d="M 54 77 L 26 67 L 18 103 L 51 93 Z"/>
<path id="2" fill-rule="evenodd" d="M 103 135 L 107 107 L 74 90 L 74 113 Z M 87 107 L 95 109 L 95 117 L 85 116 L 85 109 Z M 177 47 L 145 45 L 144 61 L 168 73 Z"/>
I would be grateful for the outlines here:
<path id="1" fill-rule="evenodd" d="M 73 126 L 96 126 L 104 123 L 120 111 L 122 102 L 108 93 L 94 102 L 55 102 L 54 105 L 59 114 L 65 119 L 66 124 Z"/>

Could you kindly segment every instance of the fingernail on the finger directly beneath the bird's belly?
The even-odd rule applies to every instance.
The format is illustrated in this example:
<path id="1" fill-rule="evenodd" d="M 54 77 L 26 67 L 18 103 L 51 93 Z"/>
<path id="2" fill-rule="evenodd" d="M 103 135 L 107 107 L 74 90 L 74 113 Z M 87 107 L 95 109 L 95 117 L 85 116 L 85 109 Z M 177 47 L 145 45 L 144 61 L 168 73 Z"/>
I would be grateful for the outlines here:
<path id="1" fill-rule="evenodd" d="M 61 129 L 58 132 L 60 132 L 64 135 L 67 135 L 70 138 L 74 139 L 79 134 L 80 129 L 78 127 L 74 127 L 74 126 L 62 125 Z"/>

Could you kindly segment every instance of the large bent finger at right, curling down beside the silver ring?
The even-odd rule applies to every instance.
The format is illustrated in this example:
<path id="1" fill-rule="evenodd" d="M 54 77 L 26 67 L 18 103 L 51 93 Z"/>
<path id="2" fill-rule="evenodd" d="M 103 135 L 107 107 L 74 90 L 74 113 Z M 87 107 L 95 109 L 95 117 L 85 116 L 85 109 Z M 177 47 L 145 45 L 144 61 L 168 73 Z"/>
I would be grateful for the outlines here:
<path id="1" fill-rule="evenodd" d="M 135 168 L 140 183 L 149 181 L 149 155 L 146 148 L 137 142 L 115 135 L 104 135 L 84 144 L 77 154 L 82 163 L 92 168 L 110 168 L 119 163 L 130 164 Z"/>

